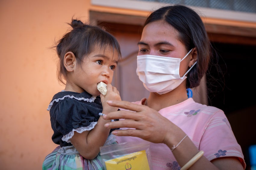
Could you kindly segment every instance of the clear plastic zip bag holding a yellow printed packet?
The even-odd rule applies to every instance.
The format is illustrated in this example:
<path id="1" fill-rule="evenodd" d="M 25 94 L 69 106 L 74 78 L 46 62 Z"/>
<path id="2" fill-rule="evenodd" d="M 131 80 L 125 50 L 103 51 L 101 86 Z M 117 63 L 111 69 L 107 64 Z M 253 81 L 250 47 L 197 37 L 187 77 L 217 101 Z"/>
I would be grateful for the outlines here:
<path id="1" fill-rule="evenodd" d="M 106 170 L 151 170 L 149 142 L 120 143 L 100 147 L 101 159 Z"/>

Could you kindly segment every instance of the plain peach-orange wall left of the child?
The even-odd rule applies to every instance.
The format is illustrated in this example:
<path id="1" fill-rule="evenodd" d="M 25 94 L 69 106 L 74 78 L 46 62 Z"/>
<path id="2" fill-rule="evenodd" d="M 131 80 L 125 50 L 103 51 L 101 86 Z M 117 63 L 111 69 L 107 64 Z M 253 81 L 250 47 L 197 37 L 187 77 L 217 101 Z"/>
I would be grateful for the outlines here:
<path id="1" fill-rule="evenodd" d="M 88 20 L 90 0 L 0 1 L 0 169 L 42 169 L 52 142 L 49 112 L 56 78 L 48 49 L 72 16 Z"/>

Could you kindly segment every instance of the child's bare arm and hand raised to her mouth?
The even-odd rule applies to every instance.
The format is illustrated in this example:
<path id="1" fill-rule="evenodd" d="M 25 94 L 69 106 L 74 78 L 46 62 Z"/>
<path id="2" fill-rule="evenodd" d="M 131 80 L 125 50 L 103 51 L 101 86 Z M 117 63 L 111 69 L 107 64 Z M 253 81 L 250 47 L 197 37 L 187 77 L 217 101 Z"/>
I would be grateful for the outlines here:
<path id="1" fill-rule="evenodd" d="M 119 91 L 117 91 L 115 87 L 108 84 L 107 89 L 108 92 L 105 97 L 101 94 L 103 114 L 108 114 L 118 109 L 117 107 L 109 106 L 107 100 L 121 100 Z M 104 145 L 110 132 L 110 129 L 104 127 L 104 124 L 107 122 L 109 122 L 109 120 L 104 120 L 101 116 L 92 130 L 83 133 L 74 132 L 70 141 L 84 158 L 94 159 L 98 155 L 100 151 L 99 148 Z"/>

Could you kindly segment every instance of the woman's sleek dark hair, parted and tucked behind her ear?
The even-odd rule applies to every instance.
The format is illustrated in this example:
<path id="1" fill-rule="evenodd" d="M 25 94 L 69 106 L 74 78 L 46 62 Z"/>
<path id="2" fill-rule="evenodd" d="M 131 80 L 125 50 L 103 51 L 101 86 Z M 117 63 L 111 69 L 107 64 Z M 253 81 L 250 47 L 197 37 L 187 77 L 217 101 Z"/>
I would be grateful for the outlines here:
<path id="1" fill-rule="evenodd" d="M 148 23 L 164 20 L 179 32 L 179 40 L 187 51 L 197 49 L 197 63 L 187 75 L 186 88 L 194 88 L 200 84 L 201 78 L 208 69 L 212 57 L 212 47 L 200 16 L 189 7 L 174 5 L 161 7 L 148 16 Z"/>

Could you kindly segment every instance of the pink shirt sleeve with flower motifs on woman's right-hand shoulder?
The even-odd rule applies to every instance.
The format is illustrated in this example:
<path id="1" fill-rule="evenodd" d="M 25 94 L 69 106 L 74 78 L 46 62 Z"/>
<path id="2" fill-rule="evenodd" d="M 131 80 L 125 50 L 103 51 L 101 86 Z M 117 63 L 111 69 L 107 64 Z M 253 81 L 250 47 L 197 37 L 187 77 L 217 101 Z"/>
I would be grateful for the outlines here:
<path id="1" fill-rule="evenodd" d="M 242 149 L 221 110 L 211 117 L 205 127 L 199 150 L 204 151 L 204 156 L 210 161 L 219 157 L 238 157 L 245 168 Z"/>

